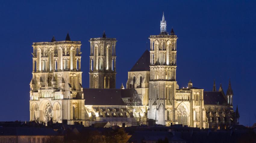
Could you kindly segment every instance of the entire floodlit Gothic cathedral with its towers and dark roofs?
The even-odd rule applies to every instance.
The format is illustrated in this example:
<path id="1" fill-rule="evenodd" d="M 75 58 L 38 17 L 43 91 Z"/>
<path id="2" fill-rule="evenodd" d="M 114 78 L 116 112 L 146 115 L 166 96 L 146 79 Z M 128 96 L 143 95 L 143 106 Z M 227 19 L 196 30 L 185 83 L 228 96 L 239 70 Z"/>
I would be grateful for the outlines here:
<path id="1" fill-rule="evenodd" d="M 91 38 L 89 88 L 82 86 L 81 42 L 34 42 L 30 82 L 30 120 L 90 126 L 97 122 L 137 126 L 182 124 L 226 129 L 238 124 L 229 80 L 226 94 L 220 84 L 212 91 L 193 86 L 180 88 L 176 80 L 177 35 L 162 16 L 160 33 L 150 35 L 146 50 L 128 72 L 126 88 L 116 89 L 115 38 Z M 89 50 L 88 50 L 89 52 Z"/>

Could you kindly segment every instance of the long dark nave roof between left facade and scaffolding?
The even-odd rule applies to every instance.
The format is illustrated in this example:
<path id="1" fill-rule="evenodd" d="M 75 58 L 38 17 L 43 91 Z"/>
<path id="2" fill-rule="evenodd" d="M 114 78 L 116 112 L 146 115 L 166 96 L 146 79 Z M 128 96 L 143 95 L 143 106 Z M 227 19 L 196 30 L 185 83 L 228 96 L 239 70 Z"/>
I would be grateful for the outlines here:
<path id="1" fill-rule="evenodd" d="M 132 97 L 135 89 L 83 88 L 85 105 L 126 105 L 122 98 Z"/>

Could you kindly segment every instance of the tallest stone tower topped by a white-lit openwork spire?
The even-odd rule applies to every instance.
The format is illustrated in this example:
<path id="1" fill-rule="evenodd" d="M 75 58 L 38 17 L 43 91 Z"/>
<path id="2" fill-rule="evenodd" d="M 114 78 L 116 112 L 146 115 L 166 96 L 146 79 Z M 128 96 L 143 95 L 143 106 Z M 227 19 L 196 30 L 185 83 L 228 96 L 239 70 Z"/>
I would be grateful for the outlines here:
<path id="1" fill-rule="evenodd" d="M 148 118 L 157 124 L 165 125 L 167 106 L 174 103 L 176 90 L 176 41 L 173 29 L 166 32 L 164 14 L 160 25 L 160 34 L 151 35 L 150 39 L 150 80 Z"/>

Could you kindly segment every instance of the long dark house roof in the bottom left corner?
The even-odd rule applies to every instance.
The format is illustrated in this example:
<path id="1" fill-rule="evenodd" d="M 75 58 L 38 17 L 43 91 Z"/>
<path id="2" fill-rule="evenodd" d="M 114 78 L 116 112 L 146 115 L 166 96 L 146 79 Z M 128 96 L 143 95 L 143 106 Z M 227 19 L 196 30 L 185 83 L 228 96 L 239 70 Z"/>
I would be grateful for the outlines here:
<path id="1" fill-rule="evenodd" d="M 61 136 L 57 131 L 48 128 L 0 127 L 0 136 Z"/>

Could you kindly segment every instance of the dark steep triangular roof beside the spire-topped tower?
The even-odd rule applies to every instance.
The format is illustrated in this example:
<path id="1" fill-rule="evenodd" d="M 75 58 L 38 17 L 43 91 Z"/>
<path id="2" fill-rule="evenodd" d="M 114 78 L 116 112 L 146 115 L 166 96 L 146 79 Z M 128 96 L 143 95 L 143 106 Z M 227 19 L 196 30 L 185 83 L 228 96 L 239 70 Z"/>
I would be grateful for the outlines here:
<path id="1" fill-rule="evenodd" d="M 135 63 L 135 65 L 132 67 L 130 72 L 150 71 L 149 65 L 150 65 L 150 53 L 148 50 L 146 50 L 142 54 L 142 56 L 139 58 L 139 60 Z"/>

